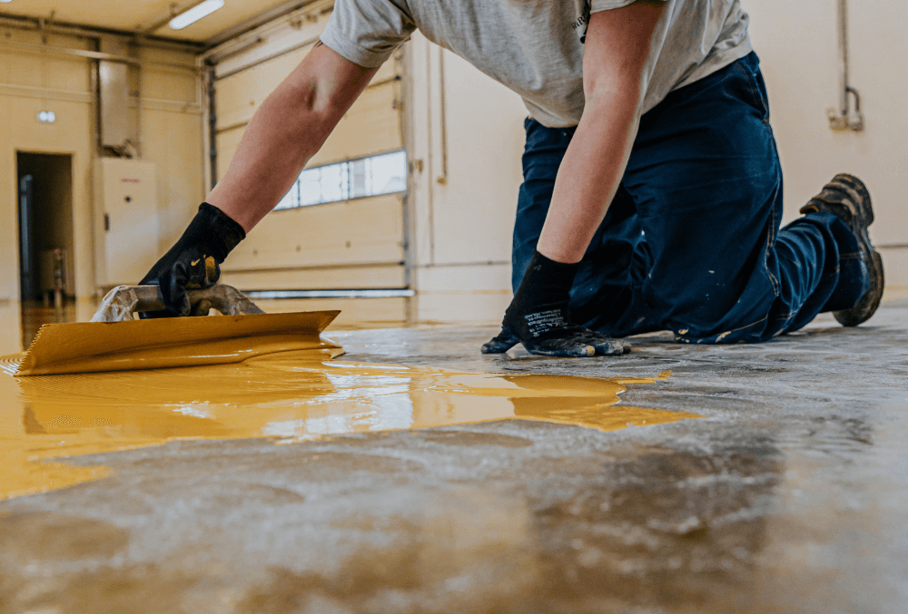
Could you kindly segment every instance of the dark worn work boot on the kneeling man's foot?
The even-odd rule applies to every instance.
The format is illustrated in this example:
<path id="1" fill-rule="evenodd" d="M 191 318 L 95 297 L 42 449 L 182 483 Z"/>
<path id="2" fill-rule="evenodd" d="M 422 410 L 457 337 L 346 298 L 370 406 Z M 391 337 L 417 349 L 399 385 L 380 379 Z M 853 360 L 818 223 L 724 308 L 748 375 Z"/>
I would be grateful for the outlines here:
<path id="1" fill-rule="evenodd" d="M 870 288 L 858 299 L 854 307 L 834 311 L 833 316 L 842 326 L 857 326 L 870 319 L 883 298 L 883 258 L 873 249 L 867 228 L 873 224 L 873 205 L 864 181 L 854 175 L 839 173 L 827 183 L 819 194 L 801 208 L 801 213 L 822 211 L 832 213 L 854 233 L 861 247 L 861 259 L 870 276 Z"/>

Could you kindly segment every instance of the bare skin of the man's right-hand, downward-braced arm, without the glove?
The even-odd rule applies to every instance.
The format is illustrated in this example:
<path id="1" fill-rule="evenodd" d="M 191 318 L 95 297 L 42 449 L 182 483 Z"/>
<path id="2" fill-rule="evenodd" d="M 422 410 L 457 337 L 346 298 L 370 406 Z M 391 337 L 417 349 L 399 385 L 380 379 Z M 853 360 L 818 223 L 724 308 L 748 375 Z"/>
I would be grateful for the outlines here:
<path id="1" fill-rule="evenodd" d="M 579 262 L 606 215 L 637 136 L 643 68 L 663 2 L 590 15 L 583 56 L 583 117 L 568 146 L 538 251 Z"/>

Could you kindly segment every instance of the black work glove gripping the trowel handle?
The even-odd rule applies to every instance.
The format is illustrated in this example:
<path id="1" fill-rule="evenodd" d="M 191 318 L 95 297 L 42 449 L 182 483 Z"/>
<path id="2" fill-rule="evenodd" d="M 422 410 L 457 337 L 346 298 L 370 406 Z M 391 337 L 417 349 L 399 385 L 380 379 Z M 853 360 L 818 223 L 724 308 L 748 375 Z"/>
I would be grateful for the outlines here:
<path id="1" fill-rule="evenodd" d="M 159 286 L 165 311 L 146 311 L 139 317 L 189 316 L 192 306 L 186 289 L 208 288 L 221 277 L 221 263 L 246 231 L 222 210 L 207 202 L 163 258 L 157 261 L 140 284 Z"/>

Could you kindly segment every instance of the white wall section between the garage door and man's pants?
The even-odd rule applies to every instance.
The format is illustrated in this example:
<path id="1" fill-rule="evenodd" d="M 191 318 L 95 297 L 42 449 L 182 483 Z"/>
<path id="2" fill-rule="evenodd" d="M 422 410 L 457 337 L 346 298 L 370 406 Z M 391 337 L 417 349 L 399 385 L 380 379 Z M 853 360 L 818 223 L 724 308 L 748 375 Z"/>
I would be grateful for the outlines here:
<path id="1" fill-rule="evenodd" d="M 511 296 L 527 111 L 517 94 L 419 34 L 407 62 L 409 149 L 417 163 L 410 192 L 414 317 L 498 321 Z"/>

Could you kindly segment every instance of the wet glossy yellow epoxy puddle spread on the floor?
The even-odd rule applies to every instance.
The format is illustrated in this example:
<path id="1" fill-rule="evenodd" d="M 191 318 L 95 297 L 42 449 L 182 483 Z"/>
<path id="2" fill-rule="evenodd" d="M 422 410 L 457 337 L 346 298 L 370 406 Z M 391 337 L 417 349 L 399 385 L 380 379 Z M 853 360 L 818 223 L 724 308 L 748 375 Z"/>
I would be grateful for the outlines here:
<path id="1" fill-rule="evenodd" d="M 336 355 L 319 349 L 232 365 L 36 377 L 12 376 L 21 355 L 0 358 L 0 499 L 110 473 L 54 459 L 175 440 L 288 443 L 503 419 L 615 431 L 699 417 L 612 406 L 625 385 L 651 377 L 481 375 L 331 361 Z"/>

